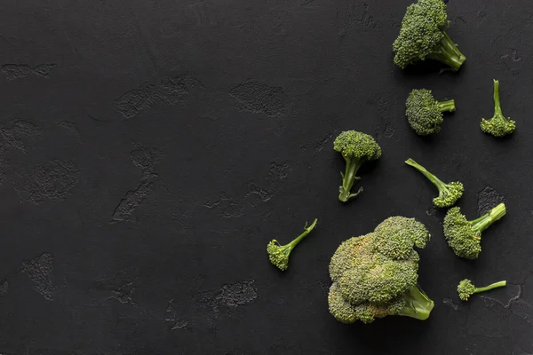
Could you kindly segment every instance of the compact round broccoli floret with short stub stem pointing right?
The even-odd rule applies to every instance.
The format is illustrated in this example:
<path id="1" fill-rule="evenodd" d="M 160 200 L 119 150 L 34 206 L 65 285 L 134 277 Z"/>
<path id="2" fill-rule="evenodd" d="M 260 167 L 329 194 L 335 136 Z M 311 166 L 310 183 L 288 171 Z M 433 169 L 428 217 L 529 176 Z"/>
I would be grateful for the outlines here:
<path id="1" fill-rule="evenodd" d="M 443 112 L 454 112 L 455 101 L 437 101 L 431 90 L 415 89 L 405 102 L 407 121 L 419 136 L 438 133 L 441 130 Z"/>

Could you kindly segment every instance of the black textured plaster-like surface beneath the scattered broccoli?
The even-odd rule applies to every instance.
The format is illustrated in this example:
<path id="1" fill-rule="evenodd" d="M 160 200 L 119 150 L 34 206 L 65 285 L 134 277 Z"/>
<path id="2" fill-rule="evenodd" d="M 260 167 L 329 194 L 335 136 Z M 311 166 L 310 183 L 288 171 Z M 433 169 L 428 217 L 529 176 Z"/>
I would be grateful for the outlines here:
<path id="1" fill-rule="evenodd" d="M 1 354 L 533 353 L 530 4 L 449 1 L 458 74 L 402 72 L 410 1 L 4 0 L 0 12 Z M 492 79 L 518 130 L 481 133 Z M 456 99 L 419 138 L 413 88 Z M 337 200 L 341 130 L 383 148 Z M 460 180 L 468 217 L 505 200 L 475 262 L 442 236 L 412 157 Z M 430 319 L 339 324 L 329 259 L 392 215 L 433 234 Z M 267 242 L 317 230 L 282 273 Z M 459 280 L 510 286 L 459 303 Z"/>

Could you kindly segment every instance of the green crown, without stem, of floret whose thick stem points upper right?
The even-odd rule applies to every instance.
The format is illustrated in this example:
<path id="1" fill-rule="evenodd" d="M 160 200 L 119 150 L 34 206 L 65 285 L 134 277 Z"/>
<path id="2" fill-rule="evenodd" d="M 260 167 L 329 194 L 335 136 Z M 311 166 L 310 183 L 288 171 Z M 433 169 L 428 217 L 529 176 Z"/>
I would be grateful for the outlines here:
<path id="1" fill-rule="evenodd" d="M 444 217 L 444 236 L 448 245 L 457 256 L 475 259 L 481 253 L 481 231 L 473 228 L 472 224 L 461 213 L 461 209 L 449 209 Z"/>

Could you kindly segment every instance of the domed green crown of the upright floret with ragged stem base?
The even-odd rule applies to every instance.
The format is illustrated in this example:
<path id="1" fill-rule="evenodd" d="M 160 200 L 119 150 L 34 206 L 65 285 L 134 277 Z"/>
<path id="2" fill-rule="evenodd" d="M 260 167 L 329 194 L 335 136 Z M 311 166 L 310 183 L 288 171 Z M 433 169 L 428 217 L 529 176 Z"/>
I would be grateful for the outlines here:
<path id="1" fill-rule="evenodd" d="M 381 156 L 381 147 L 372 136 L 356 130 L 346 130 L 333 142 L 333 149 L 345 159 L 375 161 Z"/>

